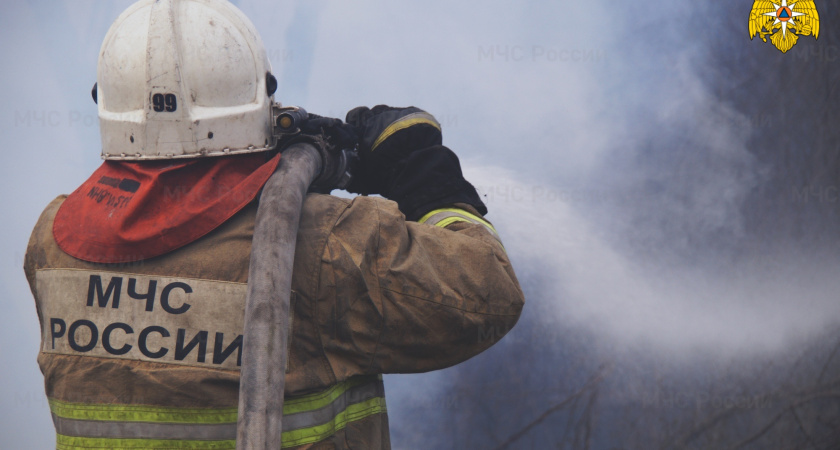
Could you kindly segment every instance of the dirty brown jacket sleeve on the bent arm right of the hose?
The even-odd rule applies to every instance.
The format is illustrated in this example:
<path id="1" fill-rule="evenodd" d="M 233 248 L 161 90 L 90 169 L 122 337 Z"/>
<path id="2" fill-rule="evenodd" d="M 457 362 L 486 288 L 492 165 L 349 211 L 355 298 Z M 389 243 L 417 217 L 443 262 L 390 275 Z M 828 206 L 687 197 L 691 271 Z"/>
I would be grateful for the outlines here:
<path id="1" fill-rule="evenodd" d="M 484 351 L 516 323 L 522 291 L 505 249 L 483 226 L 406 221 L 396 203 L 382 198 L 342 205 L 334 215 L 317 206 L 304 212 L 335 217 L 311 295 L 336 379 L 448 367 Z M 310 220 L 317 219 L 302 218 Z"/>

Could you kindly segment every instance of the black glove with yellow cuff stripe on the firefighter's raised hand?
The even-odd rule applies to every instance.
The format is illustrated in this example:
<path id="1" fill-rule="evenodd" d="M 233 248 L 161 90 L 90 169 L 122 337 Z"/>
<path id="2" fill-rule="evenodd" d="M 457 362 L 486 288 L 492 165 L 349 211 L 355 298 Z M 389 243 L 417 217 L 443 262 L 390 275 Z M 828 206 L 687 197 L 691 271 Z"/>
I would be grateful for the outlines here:
<path id="1" fill-rule="evenodd" d="M 487 213 L 458 157 L 441 145 L 440 124 L 431 114 L 415 107 L 359 107 L 347 113 L 347 123 L 359 137 L 359 164 L 348 191 L 394 200 L 409 220 L 454 203 Z"/>

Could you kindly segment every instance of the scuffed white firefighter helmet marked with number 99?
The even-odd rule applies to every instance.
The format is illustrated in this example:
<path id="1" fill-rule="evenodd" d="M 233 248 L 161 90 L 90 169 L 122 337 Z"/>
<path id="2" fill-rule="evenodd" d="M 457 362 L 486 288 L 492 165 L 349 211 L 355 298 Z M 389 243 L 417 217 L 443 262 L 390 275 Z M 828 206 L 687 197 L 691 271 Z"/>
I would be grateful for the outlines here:
<path id="1" fill-rule="evenodd" d="M 141 0 L 111 25 L 94 99 L 102 158 L 270 150 L 271 75 L 254 25 L 225 0 Z"/>

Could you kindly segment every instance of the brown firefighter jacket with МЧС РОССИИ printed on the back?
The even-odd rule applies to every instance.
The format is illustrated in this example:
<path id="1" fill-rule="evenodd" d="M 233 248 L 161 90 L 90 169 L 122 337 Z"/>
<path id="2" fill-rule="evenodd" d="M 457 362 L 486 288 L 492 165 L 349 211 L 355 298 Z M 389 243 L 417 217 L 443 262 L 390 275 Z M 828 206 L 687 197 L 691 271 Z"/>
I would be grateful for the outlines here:
<path id="1" fill-rule="evenodd" d="M 167 255 L 94 264 L 53 239 L 64 198 L 25 260 L 57 447 L 234 448 L 256 203 Z M 385 199 L 307 197 L 284 448 L 389 448 L 380 374 L 457 364 L 516 323 L 524 299 L 504 248 L 458 214 L 407 222 Z"/>

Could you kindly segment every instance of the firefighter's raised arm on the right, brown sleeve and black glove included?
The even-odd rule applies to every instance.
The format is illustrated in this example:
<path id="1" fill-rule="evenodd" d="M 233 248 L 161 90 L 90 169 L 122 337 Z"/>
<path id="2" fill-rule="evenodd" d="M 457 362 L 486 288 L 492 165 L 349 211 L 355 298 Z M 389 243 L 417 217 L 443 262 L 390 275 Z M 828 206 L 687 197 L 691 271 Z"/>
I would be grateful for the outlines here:
<path id="1" fill-rule="evenodd" d="M 349 189 L 393 201 L 348 202 L 320 257 L 318 291 L 330 295 L 317 309 L 337 378 L 435 370 L 488 348 L 524 299 L 440 125 L 420 109 L 386 106 L 356 108 L 347 122 L 361 158 Z M 329 215 L 314 209 L 302 220 Z"/>

